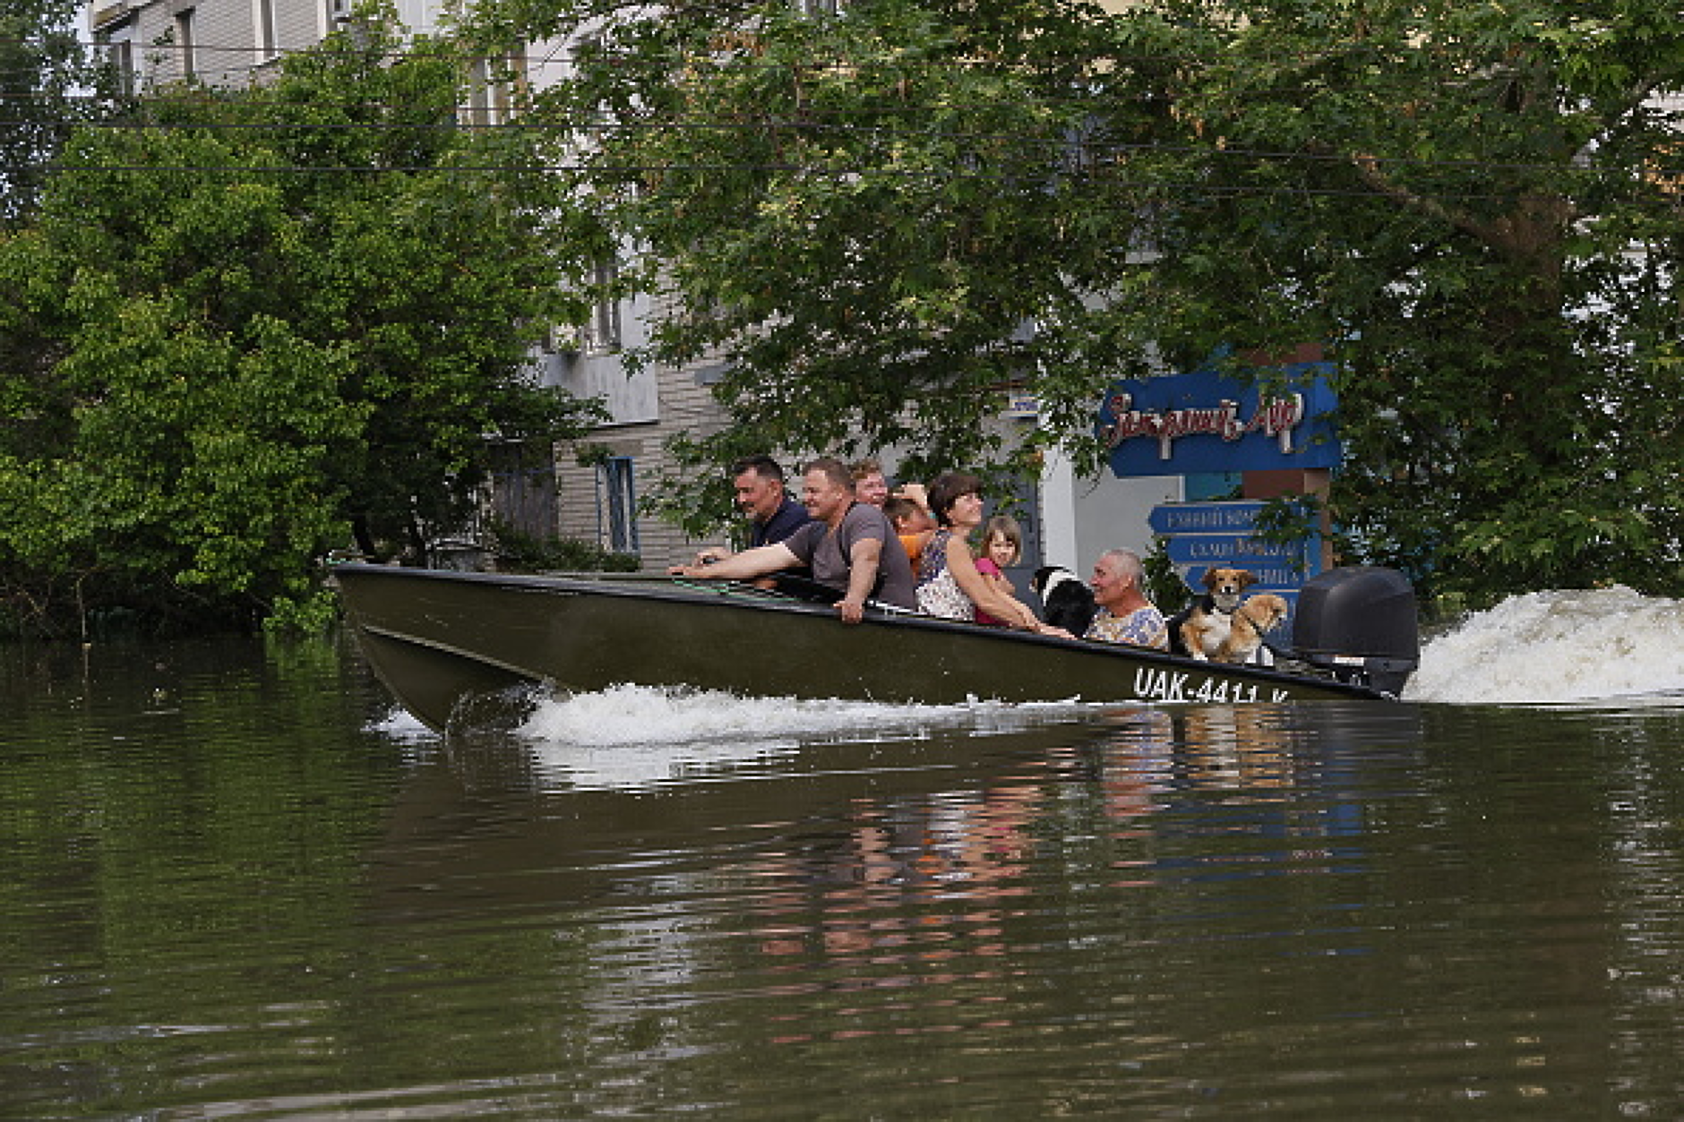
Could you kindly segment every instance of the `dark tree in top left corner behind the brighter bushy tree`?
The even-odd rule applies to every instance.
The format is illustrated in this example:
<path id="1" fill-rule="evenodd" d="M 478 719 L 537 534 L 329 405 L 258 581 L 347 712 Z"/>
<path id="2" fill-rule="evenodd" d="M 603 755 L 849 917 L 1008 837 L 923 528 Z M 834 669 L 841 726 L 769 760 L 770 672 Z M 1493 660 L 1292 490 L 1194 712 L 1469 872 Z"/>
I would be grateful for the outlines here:
<path id="1" fill-rule="evenodd" d="M 0 8 L 0 227 L 35 209 L 47 167 L 93 110 L 99 72 L 76 35 L 76 0 L 7 0 Z"/>

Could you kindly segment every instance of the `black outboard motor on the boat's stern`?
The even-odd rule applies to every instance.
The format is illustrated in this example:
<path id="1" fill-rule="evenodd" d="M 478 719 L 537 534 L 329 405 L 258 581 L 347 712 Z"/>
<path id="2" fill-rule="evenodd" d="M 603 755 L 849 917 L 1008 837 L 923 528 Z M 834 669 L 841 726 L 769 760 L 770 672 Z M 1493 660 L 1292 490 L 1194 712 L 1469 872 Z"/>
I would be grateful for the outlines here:
<path id="1" fill-rule="evenodd" d="M 1421 662 L 1415 588 L 1396 569 L 1347 566 L 1298 590 L 1292 655 L 1342 682 L 1398 694 Z"/>

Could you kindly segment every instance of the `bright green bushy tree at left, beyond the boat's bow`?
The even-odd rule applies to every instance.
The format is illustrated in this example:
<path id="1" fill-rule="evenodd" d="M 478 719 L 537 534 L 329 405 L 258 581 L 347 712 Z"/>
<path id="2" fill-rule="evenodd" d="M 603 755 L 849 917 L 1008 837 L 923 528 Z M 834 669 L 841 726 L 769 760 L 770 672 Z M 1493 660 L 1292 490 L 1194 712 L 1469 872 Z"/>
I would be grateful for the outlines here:
<path id="1" fill-rule="evenodd" d="M 285 617 L 330 548 L 423 554 L 492 440 L 594 416 L 527 367 L 576 313 L 557 184 L 529 133 L 458 126 L 465 72 L 364 27 L 69 142 L 0 243 L 15 617 Z"/>

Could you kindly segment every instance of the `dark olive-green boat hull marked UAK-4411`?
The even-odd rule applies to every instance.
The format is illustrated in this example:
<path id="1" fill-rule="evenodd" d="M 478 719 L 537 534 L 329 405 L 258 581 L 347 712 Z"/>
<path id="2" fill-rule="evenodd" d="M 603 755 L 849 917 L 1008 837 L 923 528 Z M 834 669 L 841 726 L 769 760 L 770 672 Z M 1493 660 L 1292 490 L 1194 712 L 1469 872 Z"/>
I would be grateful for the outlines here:
<path id="1" fill-rule="evenodd" d="M 919 704 L 1389 697 L 1330 677 L 909 613 L 869 610 L 864 623 L 845 625 L 829 606 L 724 581 L 369 564 L 333 574 L 376 674 L 434 729 L 468 697 L 532 682 Z"/>

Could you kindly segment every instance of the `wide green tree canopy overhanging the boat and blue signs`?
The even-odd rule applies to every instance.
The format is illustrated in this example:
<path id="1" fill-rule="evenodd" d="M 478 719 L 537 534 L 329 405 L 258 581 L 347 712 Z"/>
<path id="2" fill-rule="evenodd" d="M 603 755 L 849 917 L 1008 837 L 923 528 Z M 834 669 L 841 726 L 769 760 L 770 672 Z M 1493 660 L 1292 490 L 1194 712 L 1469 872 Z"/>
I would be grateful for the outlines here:
<path id="1" fill-rule="evenodd" d="M 1096 467 L 1111 379 L 1312 342 L 1347 556 L 1684 590 L 1674 5 L 492 0 L 482 32 L 584 44 L 541 113 L 679 308 L 645 357 L 729 359 L 692 465 Z M 1005 386 L 1029 446 L 985 423 Z"/>

